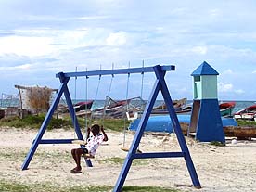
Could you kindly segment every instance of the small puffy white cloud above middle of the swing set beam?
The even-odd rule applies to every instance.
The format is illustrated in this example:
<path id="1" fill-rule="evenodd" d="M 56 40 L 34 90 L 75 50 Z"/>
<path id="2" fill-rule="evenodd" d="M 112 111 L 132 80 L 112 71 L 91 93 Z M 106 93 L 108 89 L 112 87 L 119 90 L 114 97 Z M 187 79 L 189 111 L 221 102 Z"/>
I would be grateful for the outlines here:
<path id="1" fill-rule="evenodd" d="M 127 35 L 125 32 L 110 33 L 106 42 L 110 46 L 124 45 L 127 42 Z"/>

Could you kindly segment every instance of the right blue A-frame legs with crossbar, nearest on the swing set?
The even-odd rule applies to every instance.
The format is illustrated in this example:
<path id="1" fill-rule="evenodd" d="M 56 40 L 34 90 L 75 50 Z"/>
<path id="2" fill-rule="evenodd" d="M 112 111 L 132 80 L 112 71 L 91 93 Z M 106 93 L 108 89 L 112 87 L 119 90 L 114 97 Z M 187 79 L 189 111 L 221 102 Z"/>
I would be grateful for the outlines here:
<path id="1" fill-rule="evenodd" d="M 122 171 L 119 175 L 116 186 L 113 189 L 114 192 L 122 191 L 122 186 L 125 182 L 126 176 L 129 172 L 129 169 L 132 165 L 133 160 L 134 159 L 146 159 L 146 158 L 184 157 L 184 159 L 186 160 L 186 166 L 187 166 L 188 172 L 190 173 L 190 177 L 192 179 L 193 185 L 198 188 L 201 187 L 199 180 L 198 180 L 198 175 L 196 173 L 196 170 L 195 170 L 195 167 L 193 164 L 193 161 L 189 154 L 189 150 L 186 146 L 186 140 L 182 133 L 175 110 L 173 108 L 173 101 L 171 99 L 170 93 L 168 91 L 167 85 L 164 80 L 165 71 L 160 70 L 160 66 L 155 66 L 154 70 L 155 70 L 155 73 L 157 76 L 157 80 L 153 86 L 153 90 L 152 90 L 151 95 L 149 96 L 149 99 L 147 101 L 147 106 L 143 112 L 142 118 L 138 124 L 137 129 L 136 129 L 133 143 L 130 147 L 129 152 L 127 153 L 126 159 L 124 160 L 124 163 L 122 166 Z M 178 139 L 179 145 L 181 146 L 182 152 L 160 152 L 160 153 L 136 154 L 136 149 L 139 146 L 142 134 L 144 133 L 146 125 L 147 125 L 148 118 L 150 116 L 150 113 L 153 109 L 154 103 L 156 101 L 156 98 L 157 98 L 160 90 L 163 95 L 164 101 L 166 102 L 166 105 L 168 107 L 168 111 L 169 111 L 171 120 L 173 122 L 173 129 L 174 129 L 175 134 L 177 134 L 177 139 Z"/>

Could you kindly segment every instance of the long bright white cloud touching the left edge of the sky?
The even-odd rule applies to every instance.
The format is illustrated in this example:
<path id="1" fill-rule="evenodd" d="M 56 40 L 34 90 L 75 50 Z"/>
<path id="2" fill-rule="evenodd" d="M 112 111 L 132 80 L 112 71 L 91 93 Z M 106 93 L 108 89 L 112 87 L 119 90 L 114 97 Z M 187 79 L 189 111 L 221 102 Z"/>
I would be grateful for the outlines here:
<path id="1" fill-rule="evenodd" d="M 55 51 L 49 37 L 6 36 L 0 38 L 0 55 L 44 56 Z"/>

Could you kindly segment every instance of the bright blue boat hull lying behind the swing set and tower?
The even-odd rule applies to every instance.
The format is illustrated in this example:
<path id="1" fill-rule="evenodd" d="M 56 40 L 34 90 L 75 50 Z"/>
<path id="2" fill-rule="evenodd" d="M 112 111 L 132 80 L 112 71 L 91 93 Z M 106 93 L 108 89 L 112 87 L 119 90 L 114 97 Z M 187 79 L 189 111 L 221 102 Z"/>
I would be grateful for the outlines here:
<path id="1" fill-rule="evenodd" d="M 179 122 L 190 123 L 190 115 L 177 115 Z M 222 117 L 223 126 L 237 126 L 236 120 L 233 118 Z M 129 130 L 135 131 L 138 127 L 140 119 L 130 123 Z M 166 132 L 173 133 L 173 124 L 169 115 L 150 116 L 146 125 L 147 132 Z"/>

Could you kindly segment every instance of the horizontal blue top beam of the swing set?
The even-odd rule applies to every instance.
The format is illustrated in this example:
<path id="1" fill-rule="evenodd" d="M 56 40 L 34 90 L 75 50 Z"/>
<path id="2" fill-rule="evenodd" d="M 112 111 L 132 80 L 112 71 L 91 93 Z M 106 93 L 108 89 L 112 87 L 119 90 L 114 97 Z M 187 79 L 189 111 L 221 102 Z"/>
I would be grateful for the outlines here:
<path id="1" fill-rule="evenodd" d="M 155 66 L 154 66 L 155 67 Z M 91 71 L 80 71 L 80 72 L 59 72 L 56 77 L 89 77 L 96 75 L 114 75 L 114 74 L 131 74 L 131 73 L 144 73 L 144 72 L 154 72 L 154 67 L 143 67 L 143 68 L 128 68 L 119 70 L 91 70 Z M 175 70 L 174 65 L 160 66 L 163 71 Z"/>

